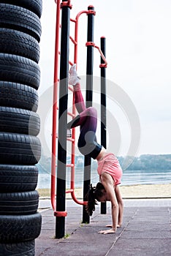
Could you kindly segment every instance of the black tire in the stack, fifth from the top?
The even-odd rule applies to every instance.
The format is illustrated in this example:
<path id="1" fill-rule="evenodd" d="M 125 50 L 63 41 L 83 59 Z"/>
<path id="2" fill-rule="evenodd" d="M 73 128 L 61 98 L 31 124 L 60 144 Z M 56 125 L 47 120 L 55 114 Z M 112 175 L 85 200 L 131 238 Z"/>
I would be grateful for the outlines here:
<path id="1" fill-rule="evenodd" d="M 38 93 L 30 86 L 0 81 L 0 104 L 12 108 L 37 111 Z"/>

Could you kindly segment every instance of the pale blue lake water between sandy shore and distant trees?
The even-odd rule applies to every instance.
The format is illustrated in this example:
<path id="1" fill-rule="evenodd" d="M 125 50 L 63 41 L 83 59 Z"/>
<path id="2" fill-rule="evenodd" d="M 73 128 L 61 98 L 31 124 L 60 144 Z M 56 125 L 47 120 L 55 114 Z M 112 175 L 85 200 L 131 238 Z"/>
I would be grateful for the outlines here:
<path id="1" fill-rule="evenodd" d="M 69 169 L 70 170 L 70 169 Z M 70 187 L 70 173 L 66 170 L 66 188 Z M 40 173 L 38 178 L 38 189 L 50 188 L 50 173 Z M 96 170 L 91 171 L 91 183 L 96 185 L 99 175 Z M 124 170 L 121 185 L 137 184 L 170 184 L 171 170 Z M 75 168 L 75 188 L 83 187 L 83 168 Z"/>

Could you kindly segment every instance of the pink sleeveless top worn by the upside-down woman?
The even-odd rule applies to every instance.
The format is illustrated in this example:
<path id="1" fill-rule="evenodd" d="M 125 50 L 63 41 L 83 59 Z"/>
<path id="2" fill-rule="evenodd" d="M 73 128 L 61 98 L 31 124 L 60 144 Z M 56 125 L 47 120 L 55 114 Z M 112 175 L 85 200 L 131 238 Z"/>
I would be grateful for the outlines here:
<path id="1" fill-rule="evenodd" d="M 112 153 L 107 153 L 98 161 L 97 172 L 101 178 L 102 173 L 109 173 L 115 182 L 115 185 L 121 183 L 122 169 L 117 157 Z"/>

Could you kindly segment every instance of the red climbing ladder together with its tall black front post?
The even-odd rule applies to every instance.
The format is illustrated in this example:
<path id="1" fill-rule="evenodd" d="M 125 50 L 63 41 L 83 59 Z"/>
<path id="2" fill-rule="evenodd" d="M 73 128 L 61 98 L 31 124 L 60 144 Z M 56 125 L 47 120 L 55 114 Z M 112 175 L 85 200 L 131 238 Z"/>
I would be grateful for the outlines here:
<path id="1" fill-rule="evenodd" d="M 67 116 L 75 118 L 75 99 L 72 97 L 72 112 L 67 111 L 68 89 L 73 91 L 71 86 L 68 86 L 67 78 L 69 72 L 69 64 L 77 64 L 77 47 L 78 47 L 78 21 L 80 15 L 86 14 L 91 18 L 96 15 L 94 7 L 89 6 L 88 10 L 81 11 L 75 19 L 70 18 L 70 10 L 72 9 L 71 1 L 56 1 L 56 45 L 55 45 L 55 63 L 54 63 L 54 84 L 53 84 L 53 132 L 52 132 L 52 162 L 51 162 L 51 204 L 56 217 L 56 238 L 64 237 L 64 223 L 67 212 L 65 211 L 65 193 L 70 193 L 75 203 L 86 206 L 85 200 L 77 200 L 75 196 L 75 128 L 72 129 L 72 137 L 66 138 L 66 122 Z M 62 16 L 61 16 L 62 12 Z M 75 35 L 69 35 L 69 23 L 75 24 Z M 61 31 L 61 50 L 59 50 L 59 38 Z M 69 42 L 74 44 L 74 61 L 69 61 Z M 94 44 L 94 42 L 86 42 L 86 47 L 96 48 L 99 50 L 102 61 L 101 68 L 107 67 L 107 61 L 102 53 L 102 50 Z M 59 64 L 59 56 L 61 62 Z M 60 78 L 59 78 L 59 67 Z M 92 75 L 88 74 L 88 75 Z M 59 85 L 59 97 L 58 97 Z M 58 99 L 59 98 L 59 99 Z M 92 100 L 91 100 L 92 101 Z M 58 102 L 58 104 L 57 104 Z M 58 106 L 59 105 L 59 106 Z M 57 116 L 58 116 L 58 132 L 57 132 Z M 61 118 L 62 117 L 62 118 Z M 62 120 L 61 120 L 62 119 Z M 58 134 L 58 135 L 57 135 Z M 57 140 L 58 138 L 58 140 Z M 71 162 L 66 164 L 66 140 L 72 143 Z M 56 143 L 58 141 L 58 162 L 56 165 Z M 61 145 L 62 141 L 62 145 Z M 57 178 L 56 178 L 57 167 Z M 66 190 L 66 167 L 71 168 L 70 189 Z M 56 191 L 57 180 L 57 191 Z M 56 195 L 57 192 L 57 195 Z"/>

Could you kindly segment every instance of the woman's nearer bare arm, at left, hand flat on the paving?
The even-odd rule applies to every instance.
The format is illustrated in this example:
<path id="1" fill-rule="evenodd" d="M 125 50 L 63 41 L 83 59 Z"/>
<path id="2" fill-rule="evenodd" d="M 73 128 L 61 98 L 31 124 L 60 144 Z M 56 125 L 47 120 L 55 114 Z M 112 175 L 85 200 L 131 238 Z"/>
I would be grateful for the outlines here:
<path id="1" fill-rule="evenodd" d="M 107 200 L 111 202 L 111 213 L 113 220 L 113 227 L 111 230 L 102 230 L 99 233 L 115 233 L 118 225 L 118 201 L 115 195 L 114 181 L 109 173 L 102 173 L 101 176 L 102 184 L 107 193 Z"/>

